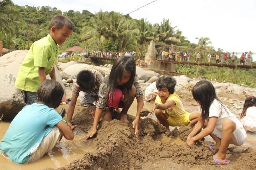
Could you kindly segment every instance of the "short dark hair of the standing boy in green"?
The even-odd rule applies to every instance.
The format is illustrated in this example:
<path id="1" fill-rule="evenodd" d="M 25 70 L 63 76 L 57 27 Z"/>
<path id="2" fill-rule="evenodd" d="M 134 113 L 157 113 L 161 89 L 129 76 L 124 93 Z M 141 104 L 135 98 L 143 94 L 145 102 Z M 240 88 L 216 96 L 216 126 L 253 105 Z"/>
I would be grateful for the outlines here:
<path id="1" fill-rule="evenodd" d="M 68 27 L 70 30 L 75 29 L 75 24 L 68 18 L 63 15 L 54 16 L 49 24 L 49 29 L 55 26 L 57 29 L 61 29 L 64 26 Z"/>

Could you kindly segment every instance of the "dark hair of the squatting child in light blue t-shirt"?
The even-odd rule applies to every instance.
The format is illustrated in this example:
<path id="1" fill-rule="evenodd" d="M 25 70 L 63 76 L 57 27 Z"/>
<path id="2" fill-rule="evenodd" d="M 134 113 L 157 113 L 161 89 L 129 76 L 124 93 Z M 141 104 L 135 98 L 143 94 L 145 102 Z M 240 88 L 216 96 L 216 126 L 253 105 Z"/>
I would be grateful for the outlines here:
<path id="1" fill-rule="evenodd" d="M 44 102 L 48 107 L 56 109 L 59 107 L 64 90 L 59 82 L 55 80 L 45 80 L 39 86 L 35 97 L 38 101 Z"/>

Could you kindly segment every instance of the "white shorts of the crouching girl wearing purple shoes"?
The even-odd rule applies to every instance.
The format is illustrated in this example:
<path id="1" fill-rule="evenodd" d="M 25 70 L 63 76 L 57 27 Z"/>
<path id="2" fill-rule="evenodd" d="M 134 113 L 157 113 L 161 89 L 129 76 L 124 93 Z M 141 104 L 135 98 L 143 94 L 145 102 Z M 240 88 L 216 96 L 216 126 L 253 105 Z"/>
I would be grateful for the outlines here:
<path id="1" fill-rule="evenodd" d="M 234 144 L 236 146 L 240 146 L 240 145 L 243 145 L 244 142 L 246 141 L 247 134 L 246 134 L 241 122 L 236 123 L 236 125 L 237 125 L 237 127 L 233 132 L 233 138 L 230 143 Z M 222 138 L 222 130 L 214 128 L 212 134 L 217 136 L 219 139 Z"/>

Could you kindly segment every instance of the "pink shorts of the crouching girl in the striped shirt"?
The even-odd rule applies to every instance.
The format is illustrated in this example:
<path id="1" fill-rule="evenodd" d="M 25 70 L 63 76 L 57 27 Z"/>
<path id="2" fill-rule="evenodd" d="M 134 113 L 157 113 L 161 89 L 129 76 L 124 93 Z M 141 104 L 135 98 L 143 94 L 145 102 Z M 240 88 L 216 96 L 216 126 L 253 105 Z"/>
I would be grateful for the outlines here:
<path id="1" fill-rule="evenodd" d="M 124 95 L 121 89 L 117 88 L 115 89 L 114 95 L 113 95 L 113 99 L 112 99 L 112 95 L 109 94 L 108 100 L 106 102 L 106 106 L 108 107 L 113 107 L 115 109 L 121 108 L 121 103 L 124 99 Z"/>

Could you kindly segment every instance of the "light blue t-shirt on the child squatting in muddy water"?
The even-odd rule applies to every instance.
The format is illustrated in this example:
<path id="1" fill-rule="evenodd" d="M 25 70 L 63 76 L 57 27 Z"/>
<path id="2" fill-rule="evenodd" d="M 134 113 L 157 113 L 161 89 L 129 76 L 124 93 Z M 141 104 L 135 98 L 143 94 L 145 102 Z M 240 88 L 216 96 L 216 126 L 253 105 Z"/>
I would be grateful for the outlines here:
<path id="1" fill-rule="evenodd" d="M 26 105 L 16 115 L 6 131 L 0 150 L 18 164 L 24 164 L 30 159 L 30 149 L 41 143 L 62 117 L 44 104 Z"/>

